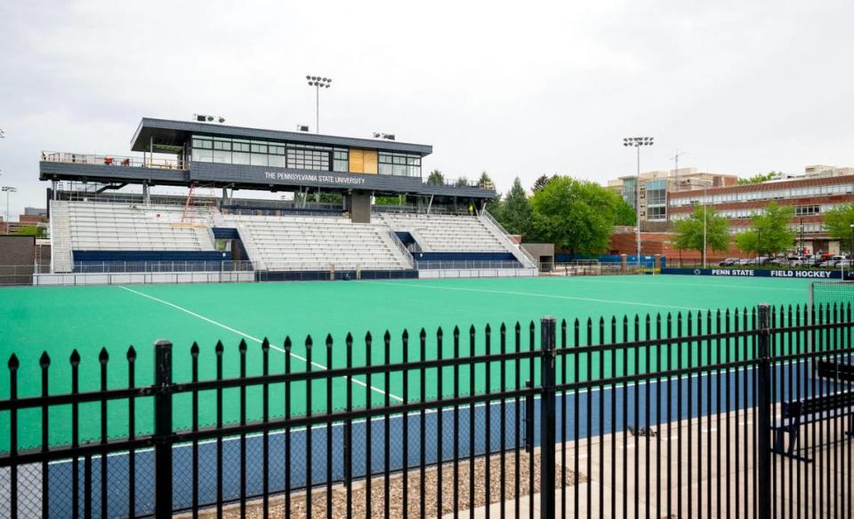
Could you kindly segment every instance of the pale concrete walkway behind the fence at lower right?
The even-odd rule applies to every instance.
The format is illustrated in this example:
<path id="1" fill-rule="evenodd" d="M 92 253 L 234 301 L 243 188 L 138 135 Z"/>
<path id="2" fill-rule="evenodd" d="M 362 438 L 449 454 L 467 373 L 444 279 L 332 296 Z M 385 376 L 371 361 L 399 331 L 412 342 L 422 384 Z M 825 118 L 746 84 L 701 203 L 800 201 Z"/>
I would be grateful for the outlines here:
<path id="1" fill-rule="evenodd" d="M 817 424 L 814 431 L 811 425 L 802 427 L 801 446 L 808 447 L 802 455 L 813 457 L 812 463 L 772 454 L 771 516 L 854 516 L 854 441 L 845 435 L 848 422 L 841 417 Z M 570 442 L 566 445 L 568 468 L 574 468 L 577 457 L 578 468 L 589 476 L 589 482 L 565 489 L 566 515 L 564 494 L 558 491 L 557 507 L 548 516 L 755 516 L 753 427 L 752 410 L 734 411 L 693 419 L 690 426 L 687 420 L 674 422 L 669 432 L 666 425 L 653 427 L 657 435 L 652 437 L 617 433 L 594 438 L 592 442 L 579 441 L 577 446 Z M 813 447 L 816 442 L 812 438 L 818 436 L 824 444 L 820 448 Z M 559 463 L 563 459 L 562 451 L 558 451 L 557 459 Z M 527 496 L 520 499 L 520 517 L 529 517 L 531 507 L 533 516 L 540 517 L 539 503 L 539 494 L 533 497 L 533 502 Z M 487 507 L 480 507 L 474 516 L 499 517 L 501 507 L 508 517 L 514 516 L 514 501 L 496 503 L 488 511 Z M 444 517 L 470 517 L 470 512 Z"/>

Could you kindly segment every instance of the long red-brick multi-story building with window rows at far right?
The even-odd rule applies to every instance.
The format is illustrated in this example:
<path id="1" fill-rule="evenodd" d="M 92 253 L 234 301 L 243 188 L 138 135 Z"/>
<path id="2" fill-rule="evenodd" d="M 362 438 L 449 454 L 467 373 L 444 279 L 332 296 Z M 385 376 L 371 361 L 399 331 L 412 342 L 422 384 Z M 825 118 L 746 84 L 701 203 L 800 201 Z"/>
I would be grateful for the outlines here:
<path id="1" fill-rule="evenodd" d="M 808 166 L 802 176 L 780 178 L 744 186 L 710 187 L 671 193 L 670 220 L 688 218 L 695 204 L 706 204 L 729 219 L 733 234 L 751 226 L 750 217 L 761 213 L 770 201 L 794 206 L 790 225 L 798 234 L 797 248 L 810 252 L 839 252 L 839 241 L 828 236 L 826 212 L 854 202 L 854 168 Z"/>

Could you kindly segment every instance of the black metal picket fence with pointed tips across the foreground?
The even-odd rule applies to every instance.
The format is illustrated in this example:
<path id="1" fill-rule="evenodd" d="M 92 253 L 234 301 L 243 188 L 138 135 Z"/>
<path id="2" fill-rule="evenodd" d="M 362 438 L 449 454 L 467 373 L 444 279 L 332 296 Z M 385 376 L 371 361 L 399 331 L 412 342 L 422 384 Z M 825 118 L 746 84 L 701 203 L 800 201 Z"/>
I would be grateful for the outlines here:
<path id="1" fill-rule="evenodd" d="M 159 341 L 150 383 L 131 347 L 121 388 L 102 350 L 81 391 L 74 351 L 64 394 L 47 354 L 23 386 L 12 355 L 0 515 L 851 516 L 852 333 L 848 303 L 265 339 L 260 355 Z"/>

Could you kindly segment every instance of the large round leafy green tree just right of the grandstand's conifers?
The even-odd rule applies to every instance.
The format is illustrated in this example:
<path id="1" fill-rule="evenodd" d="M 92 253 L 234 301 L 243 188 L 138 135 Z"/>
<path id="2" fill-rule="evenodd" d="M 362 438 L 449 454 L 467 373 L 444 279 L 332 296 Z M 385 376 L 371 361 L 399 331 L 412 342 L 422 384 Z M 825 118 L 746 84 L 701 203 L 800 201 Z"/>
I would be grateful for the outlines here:
<path id="1" fill-rule="evenodd" d="M 616 220 L 611 195 L 593 182 L 552 177 L 531 198 L 534 234 L 571 255 L 607 252 Z"/>

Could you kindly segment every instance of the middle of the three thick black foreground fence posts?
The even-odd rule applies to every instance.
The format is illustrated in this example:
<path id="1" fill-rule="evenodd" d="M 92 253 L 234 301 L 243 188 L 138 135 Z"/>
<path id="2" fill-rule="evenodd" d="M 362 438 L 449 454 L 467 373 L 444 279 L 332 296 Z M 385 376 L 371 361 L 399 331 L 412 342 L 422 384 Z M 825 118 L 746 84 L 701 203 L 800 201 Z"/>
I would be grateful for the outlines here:
<path id="1" fill-rule="evenodd" d="M 555 511 L 555 318 L 547 315 L 540 320 L 540 517 L 549 519 Z"/>

